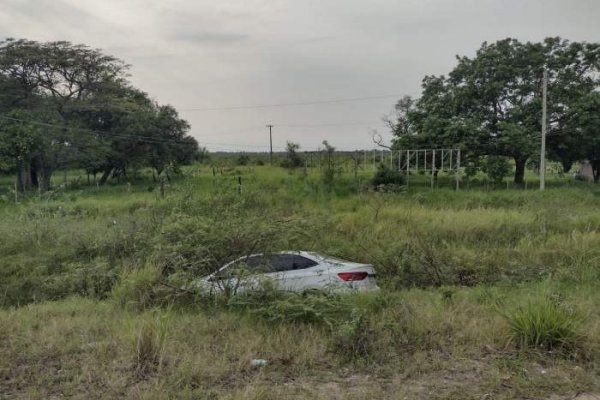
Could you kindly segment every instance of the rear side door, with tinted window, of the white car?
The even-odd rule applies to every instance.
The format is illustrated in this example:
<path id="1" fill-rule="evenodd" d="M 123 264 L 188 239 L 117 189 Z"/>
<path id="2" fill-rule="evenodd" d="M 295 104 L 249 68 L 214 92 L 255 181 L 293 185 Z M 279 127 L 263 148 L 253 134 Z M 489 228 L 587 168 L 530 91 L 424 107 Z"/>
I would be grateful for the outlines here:
<path id="1" fill-rule="evenodd" d="M 329 284 L 328 267 L 300 254 L 279 254 L 271 261 L 273 273 L 269 275 L 286 291 L 301 292 L 325 289 Z"/>

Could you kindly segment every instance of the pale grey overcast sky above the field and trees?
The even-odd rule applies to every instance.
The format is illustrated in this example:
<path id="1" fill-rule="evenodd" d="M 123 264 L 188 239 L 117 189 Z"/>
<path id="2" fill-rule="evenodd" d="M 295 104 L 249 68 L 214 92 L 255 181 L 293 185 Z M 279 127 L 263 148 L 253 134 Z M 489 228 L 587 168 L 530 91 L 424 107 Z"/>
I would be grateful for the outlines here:
<path id="1" fill-rule="evenodd" d="M 382 117 L 456 54 L 506 37 L 598 41 L 599 17 L 599 0 L 0 0 L 0 37 L 123 59 L 211 150 L 267 150 L 267 123 L 276 148 L 356 149 L 373 147 L 373 129 L 389 140 Z"/>

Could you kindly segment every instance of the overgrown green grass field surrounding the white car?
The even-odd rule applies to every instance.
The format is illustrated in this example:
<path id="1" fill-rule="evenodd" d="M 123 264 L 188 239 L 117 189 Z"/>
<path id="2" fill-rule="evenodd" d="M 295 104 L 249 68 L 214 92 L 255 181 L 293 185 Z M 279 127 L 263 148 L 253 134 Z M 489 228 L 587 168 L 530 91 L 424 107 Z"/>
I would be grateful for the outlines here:
<path id="1" fill-rule="evenodd" d="M 162 195 L 150 180 L 96 188 L 69 175 L 18 203 L 0 178 L 0 398 L 600 393 L 594 185 L 454 191 L 441 176 L 432 191 L 416 175 L 382 193 L 365 190 L 370 173 L 194 166 Z M 284 249 L 372 263 L 383 290 L 177 289 Z"/>

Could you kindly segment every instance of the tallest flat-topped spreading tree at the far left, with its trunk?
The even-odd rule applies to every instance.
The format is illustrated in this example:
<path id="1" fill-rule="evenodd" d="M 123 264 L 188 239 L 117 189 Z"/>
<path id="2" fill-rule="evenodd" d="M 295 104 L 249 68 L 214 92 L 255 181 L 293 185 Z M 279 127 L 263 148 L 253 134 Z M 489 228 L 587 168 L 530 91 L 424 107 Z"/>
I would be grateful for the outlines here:
<path id="1" fill-rule="evenodd" d="M 3 86 L 10 88 L 6 93 L 10 104 L 5 102 L 4 111 L 27 110 L 33 122 L 48 127 L 40 135 L 47 145 L 38 146 L 39 151 L 28 164 L 18 163 L 18 188 L 24 190 L 34 183 L 24 177 L 40 175 L 40 188 L 47 189 L 52 172 L 68 165 L 69 156 L 77 154 L 70 151 L 75 142 L 93 140 L 79 135 L 80 131 L 52 126 L 77 125 L 74 117 L 78 107 L 93 98 L 104 84 L 122 81 L 125 69 L 120 60 L 83 45 L 25 39 L 0 42 L 0 77 Z"/>

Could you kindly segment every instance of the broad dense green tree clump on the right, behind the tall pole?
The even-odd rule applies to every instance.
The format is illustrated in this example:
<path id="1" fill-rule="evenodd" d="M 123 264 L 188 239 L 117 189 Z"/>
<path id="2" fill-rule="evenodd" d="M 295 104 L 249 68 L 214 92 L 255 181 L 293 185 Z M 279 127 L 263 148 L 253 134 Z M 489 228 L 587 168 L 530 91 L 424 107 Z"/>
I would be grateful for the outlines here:
<path id="1" fill-rule="evenodd" d="M 483 43 L 457 56 L 448 76 L 426 76 L 420 98 L 404 97 L 390 121 L 394 148 L 460 148 L 475 169 L 487 157 L 514 160 L 514 181 L 539 160 L 542 76 L 548 71 L 548 157 L 565 172 L 589 160 L 600 179 L 600 44 L 547 38 Z"/>

